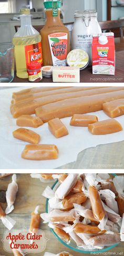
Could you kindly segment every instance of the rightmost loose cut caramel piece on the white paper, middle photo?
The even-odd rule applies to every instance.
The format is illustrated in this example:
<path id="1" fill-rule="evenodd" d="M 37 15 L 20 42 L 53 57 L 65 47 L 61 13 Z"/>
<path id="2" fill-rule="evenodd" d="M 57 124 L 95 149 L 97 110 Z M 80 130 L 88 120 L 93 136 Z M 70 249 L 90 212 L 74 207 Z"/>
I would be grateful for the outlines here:
<path id="1" fill-rule="evenodd" d="M 107 119 L 88 125 L 88 130 L 94 135 L 113 134 L 122 131 L 122 126 L 115 119 Z"/>

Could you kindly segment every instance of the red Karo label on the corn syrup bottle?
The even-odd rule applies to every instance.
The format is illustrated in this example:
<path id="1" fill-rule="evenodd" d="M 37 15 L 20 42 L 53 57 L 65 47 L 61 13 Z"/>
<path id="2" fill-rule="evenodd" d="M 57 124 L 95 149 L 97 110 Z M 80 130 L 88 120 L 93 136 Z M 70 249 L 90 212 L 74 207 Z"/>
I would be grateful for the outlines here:
<path id="1" fill-rule="evenodd" d="M 34 62 L 40 62 L 43 64 L 42 58 L 42 43 L 25 45 L 25 58 L 26 65 Z"/>

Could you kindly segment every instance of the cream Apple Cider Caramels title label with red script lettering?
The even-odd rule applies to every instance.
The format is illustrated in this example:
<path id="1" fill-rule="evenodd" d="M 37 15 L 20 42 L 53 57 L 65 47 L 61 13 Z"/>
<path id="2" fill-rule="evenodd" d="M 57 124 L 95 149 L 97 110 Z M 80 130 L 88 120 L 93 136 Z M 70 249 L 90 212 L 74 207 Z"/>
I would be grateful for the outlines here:
<path id="1" fill-rule="evenodd" d="M 39 253 L 45 250 L 48 239 L 40 229 L 35 229 L 34 233 L 29 232 L 25 227 L 20 230 L 5 231 L 3 249 L 6 252 L 18 250 L 26 255 L 27 253 Z"/>

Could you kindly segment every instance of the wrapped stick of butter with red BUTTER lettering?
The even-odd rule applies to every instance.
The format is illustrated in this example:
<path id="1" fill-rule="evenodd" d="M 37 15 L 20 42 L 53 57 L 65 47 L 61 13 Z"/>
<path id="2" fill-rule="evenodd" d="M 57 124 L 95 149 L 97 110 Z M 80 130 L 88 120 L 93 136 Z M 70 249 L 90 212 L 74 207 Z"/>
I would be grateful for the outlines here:
<path id="1" fill-rule="evenodd" d="M 53 82 L 80 82 L 80 69 L 77 67 L 54 67 Z"/>

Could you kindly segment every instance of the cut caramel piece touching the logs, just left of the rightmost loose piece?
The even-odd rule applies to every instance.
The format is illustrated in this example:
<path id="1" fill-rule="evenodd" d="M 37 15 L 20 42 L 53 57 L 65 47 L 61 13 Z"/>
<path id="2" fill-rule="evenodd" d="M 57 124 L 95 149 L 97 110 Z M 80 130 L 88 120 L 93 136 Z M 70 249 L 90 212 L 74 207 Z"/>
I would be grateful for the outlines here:
<path id="1" fill-rule="evenodd" d="M 70 125 L 85 127 L 89 124 L 94 124 L 94 122 L 98 122 L 98 118 L 96 116 L 75 114 L 70 120 Z"/>

